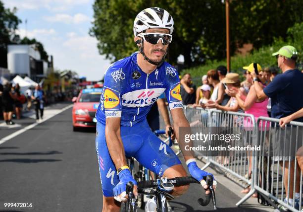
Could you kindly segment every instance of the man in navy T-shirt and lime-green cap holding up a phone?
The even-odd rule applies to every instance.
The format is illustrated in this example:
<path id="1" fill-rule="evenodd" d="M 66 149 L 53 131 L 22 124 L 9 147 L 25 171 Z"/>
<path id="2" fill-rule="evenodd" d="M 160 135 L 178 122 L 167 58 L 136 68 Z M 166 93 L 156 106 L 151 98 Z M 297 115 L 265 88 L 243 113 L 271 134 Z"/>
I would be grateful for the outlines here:
<path id="1" fill-rule="evenodd" d="M 254 81 L 254 89 L 259 99 L 264 99 L 267 97 L 271 98 L 271 117 L 272 118 L 283 118 L 287 117 L 303 107 L 303 73 L 296 69 L 296 60 L 298 59 L 298 52 L 293 46 L 283 46 L 278 52 L 274 53 L 273 56 L 277 57 L 278 67 L 282 70 L 282 74 L 277 75 L 268 86 L 264 89 L 260 86 L 257 81 L 257 76 L 252 73 Z M 303 117 L 297 118 L 294 121 L 303 122 Z M 291 138 L 290 131 L 286 131 L 286 137 Z M 284 145 L 284 138 L 279 138 L 278 131 L 273 132 L 272 141 L 280 141 L 279 144 Z M 285 141 L 289 148 L 296 141 Z M 281 146 L 280 145 L 280 146 Z M 294 157 L 282 157 L 284 154 L 284 148 L 279 148 L 275 153 L 275 160 L 280 161 L 280 165 L 284 167 L 284 186 L 286 194 L 289 196 L 284 200 L 285 203 L 293 204 L 293 189 L 294 189 L 294 173 L 295 173 L 295 163 Z M 293 154 L 294 155 L 294 154 Z M 285 163 L 283 163 L 285 159 Z M 290 164 L 289 164 L 290 163 Z M 284 164 L 284 165 L 283 165 Z M 288 168 L 290 167 L 290 169 Z M 290 187 L 288 187 L 288 180 L 290 179 Z M 297 172 L 296 175 L 296 185 L 295 185 L 295 201 L 298 201 L 298 194 L 300 192 L 300 175 Z"/>

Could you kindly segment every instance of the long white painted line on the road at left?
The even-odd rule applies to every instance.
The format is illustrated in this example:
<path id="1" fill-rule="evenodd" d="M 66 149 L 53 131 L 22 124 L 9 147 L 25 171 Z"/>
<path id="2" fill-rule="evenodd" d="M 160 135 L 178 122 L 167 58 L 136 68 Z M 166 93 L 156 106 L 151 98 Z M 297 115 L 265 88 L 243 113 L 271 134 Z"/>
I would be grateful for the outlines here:
<path id="1" fill-rule="evenodd" d="M 73 104 L 68 105 L 68 106 L 66 106 L 66 107 L 64 107 L 64 108 L 62 108 L 60 110 L 51 110 L 51 109 L 50 110 L 46 110 L 45 111 L 45 116 L 44 116 L 45 118 L 43 120 L 41 120 L 39 122 L 36 122 L 34 124 L 31 124 L 29 126 L 26 126 L 25 128 L 22 128 L 22 129 L 20 129 L 20 130 L 18 130 L 16 132 L 14 132 L 14 133 L 12 133 L 12 134 L 4 137 L 4 138 L 2 138 L 0 140 L 0 144 L 2 144 L 5 141 L 8 141 L 8 140 L 10 140 L 10 139 L 18 136 L 18 135 L 20 135 L 21 133 L 24 133 L 24 132 L 26 132 L 26 131 L 28 131 L 28 130 L 34 128 L 34 127 L 36 127 L 37 125 L 39 125 L 39 124 L 41 124 L 41 123 L 49 120 L 50 118 L 54 117 L 55 115 L 58 115 L 59 113 L 62 113 L 63 111 L 67 110 L 68 108 L 71 108 L 72 106 L 73 106 Z"/>

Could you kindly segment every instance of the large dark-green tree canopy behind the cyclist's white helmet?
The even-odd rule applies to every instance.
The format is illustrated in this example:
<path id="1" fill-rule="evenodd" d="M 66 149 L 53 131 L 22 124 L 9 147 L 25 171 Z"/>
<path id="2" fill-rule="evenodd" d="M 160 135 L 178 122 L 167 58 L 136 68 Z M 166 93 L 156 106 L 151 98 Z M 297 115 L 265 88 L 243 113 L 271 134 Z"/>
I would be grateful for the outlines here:
<path id="1" fill-rule="evenodd" d="M 134 19 L 155 5 L 166 9 L 175 22 L 169 63 L 175 64 L 180 54 L 185 68 L 226 57 L 223 0 L 95 0 L 90 34 L 99 41 L 100 54 L 115 61 L 137 51 Z M 231 0 L 231 52 L 244 43 L 257 49 L 271 44 L 273 37 L 285 38 L 287 29 L 302 21 L 302 8 L 303 1 L 298 0 Z"/>

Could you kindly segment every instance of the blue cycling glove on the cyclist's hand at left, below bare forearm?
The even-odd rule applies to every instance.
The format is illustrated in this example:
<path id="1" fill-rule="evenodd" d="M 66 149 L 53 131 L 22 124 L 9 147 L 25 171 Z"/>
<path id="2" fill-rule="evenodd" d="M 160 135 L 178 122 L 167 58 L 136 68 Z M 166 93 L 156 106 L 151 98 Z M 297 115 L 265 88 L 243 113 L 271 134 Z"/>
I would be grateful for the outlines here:
<path id="1" fill-rule="evenodd" d="M 134 180 L 132 174 L 128 169 L 123 169 L 122 171 L 119 172 L 118 174 L 120 182 L 114 187 L 114 198 L 115 200 L 121 202 L 121 201 L 126 201 L 127 199 L 125 198 L 126 196 L 126 185 L 129 181 L 133 182 L 134 185 L 137 185 L 137 182 Z M 121 195 L 121 198 L 118 198 L 117 196 L 119 194 Z"/>

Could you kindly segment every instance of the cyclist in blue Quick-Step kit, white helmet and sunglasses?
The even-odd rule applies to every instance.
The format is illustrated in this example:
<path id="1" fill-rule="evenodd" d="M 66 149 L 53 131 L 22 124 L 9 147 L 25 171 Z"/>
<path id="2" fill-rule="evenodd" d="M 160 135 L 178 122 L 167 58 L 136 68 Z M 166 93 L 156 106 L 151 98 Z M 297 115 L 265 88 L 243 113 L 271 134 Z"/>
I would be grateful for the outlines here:
<path id="1" fill-rule="evenodd" d="M 119 211 L 126 201 L 126 184 L 135 184 L 126 157 L 135 157 L 158 175 L 174 178 L 187 176 L 173 150 L 151 131 L 146 115 L 152 104 L 165 92 L 173 119 L 175 135 L 179 127 L 190 127 L 180 95 L 178 72 L 164 62 L 168 44 L 172 41 L 173 18 L 159 7 L 141 11 L 134 21 L 134 41 L 139 53 L 113 63 L 104 75 L 104 88 L 97 110 L 96 150 L 103 191 L 102 211 Z M 178 141 L 184 146 L 184 141 Z M 183 151 L 190 174 L 207 185 L 193 155 Z M 214 183 L 214 186 L 216 182 Z M 171 193 L 179 196 L 188 186 L 175 187 Z M 209 193 L 209 191 L 206 191 Z M 117 201 L 115 201 L 117 200 Z"/>

